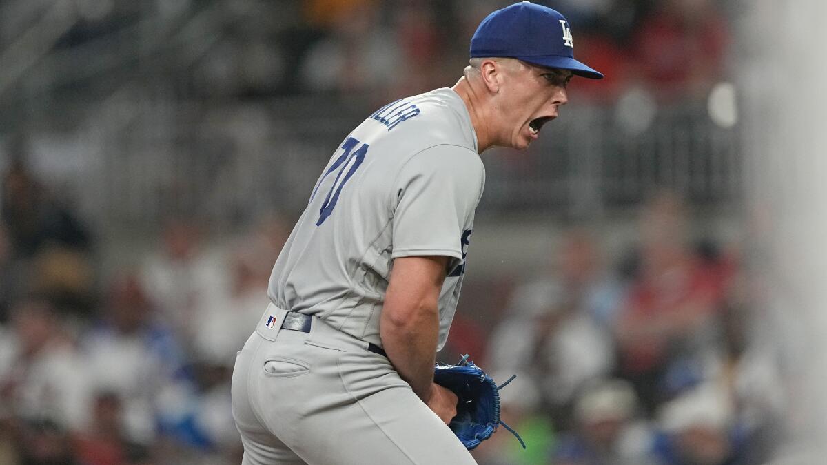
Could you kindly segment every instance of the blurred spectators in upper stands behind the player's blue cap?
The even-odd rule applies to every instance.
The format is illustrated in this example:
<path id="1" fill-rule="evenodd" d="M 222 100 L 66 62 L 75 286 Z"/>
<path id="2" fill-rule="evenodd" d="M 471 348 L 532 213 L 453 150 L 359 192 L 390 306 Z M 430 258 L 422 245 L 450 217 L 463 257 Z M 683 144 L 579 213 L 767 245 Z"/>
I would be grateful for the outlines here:
<path id="1" fill-rule="evenodd" d="M 509 3 L 293 2 L 293 8 L 281 12 L 290 19 L 270 31 L 279 39 L 275 51 L 268 47 L 265 33 L 228 44 L 227 53 L 204 61 L 203 84 L 254 94 L 361 93 L 372 97 L 371 104 L 444 87 L 456 81 L 482 18 Z M 665 103 L 704 98 L 725 75 L 730 37 L 727 12 L 719 2 L 538 3 L 566 15 L 575 34 L 577 58 L 606 75 L 600 83 L 572 86 L 598 102 L 612 102 L 630 89 L 646 89 Z M 270 55 L 264 50 L 270 50 Z"/>

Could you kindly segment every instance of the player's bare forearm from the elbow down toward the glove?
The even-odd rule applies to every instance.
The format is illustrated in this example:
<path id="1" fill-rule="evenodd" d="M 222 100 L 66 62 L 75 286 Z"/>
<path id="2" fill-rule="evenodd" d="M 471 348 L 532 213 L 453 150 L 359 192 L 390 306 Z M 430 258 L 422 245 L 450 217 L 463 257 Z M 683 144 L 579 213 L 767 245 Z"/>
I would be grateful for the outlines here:
<path id="1" fill-rule="evenodd" d="M 390 314 L 383 311 L 380 321 L 383 348 L 399 376 L 427 403 L 439 333 L 437 309 L 423 309 L 404 321 L 386 316 Z"/>

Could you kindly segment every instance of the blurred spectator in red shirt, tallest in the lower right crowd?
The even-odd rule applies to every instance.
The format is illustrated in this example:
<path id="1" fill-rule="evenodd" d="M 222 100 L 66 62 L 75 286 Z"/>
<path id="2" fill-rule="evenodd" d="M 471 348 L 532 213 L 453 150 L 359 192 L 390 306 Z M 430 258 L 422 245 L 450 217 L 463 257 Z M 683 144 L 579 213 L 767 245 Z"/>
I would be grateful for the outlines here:
<path id="1" fill-rule="evenodd" d="M 619 372 L 649 412 L 703 379 L 708 363 L 723 354 L 717 322 L 729 273 L 692 249 L 688 221 L 673 194 L 658 194 L 644 207 L 639 270 L 615 320 Z"/>

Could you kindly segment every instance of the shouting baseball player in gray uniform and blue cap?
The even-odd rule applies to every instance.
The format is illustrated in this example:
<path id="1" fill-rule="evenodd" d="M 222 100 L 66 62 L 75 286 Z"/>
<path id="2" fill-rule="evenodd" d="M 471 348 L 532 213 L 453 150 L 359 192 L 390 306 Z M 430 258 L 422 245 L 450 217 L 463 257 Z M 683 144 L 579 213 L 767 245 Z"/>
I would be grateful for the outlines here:
<path id="1" fill-rule="evenodd" d="M 493 12 L 457 84 L 388 103 L 334 151 L 237 357 L 244 464 L 475 463 L 433 366 L 485 183 L 479 154 L 528 147 L 572 76 L 602 77 L 573 51 L 551 8 Z"/>

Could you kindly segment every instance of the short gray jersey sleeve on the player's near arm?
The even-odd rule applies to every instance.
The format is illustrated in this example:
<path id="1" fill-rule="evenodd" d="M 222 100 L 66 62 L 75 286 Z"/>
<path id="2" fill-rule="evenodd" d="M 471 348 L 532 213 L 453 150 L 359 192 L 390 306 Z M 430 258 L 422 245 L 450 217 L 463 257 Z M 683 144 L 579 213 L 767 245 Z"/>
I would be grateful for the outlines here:
<path id="1" fill-rule="evenodd" d="M 461 261 L 462 233 L 484 184 L 480 156 L 465 147 L 434 146 L 411 158 L 394 183 L 392 258 L 451 256 L 452 266 Z"/>

